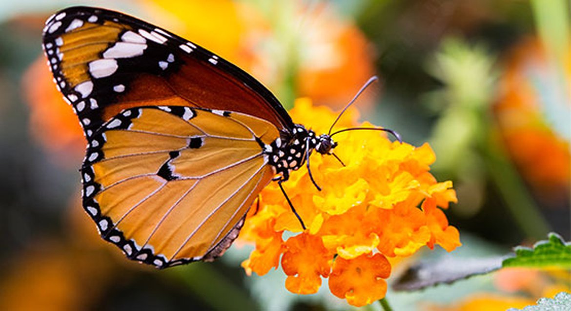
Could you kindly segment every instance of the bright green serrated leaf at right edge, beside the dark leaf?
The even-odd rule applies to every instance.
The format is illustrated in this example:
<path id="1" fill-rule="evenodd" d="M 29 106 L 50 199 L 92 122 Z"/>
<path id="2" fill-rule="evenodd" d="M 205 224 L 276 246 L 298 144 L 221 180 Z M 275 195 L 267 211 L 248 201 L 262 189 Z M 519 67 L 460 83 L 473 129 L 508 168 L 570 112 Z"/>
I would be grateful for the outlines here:
<path id="1" fill-rule="evenodd" d="M 549 239 L 539 241 L 532 248 L 516 246 L 514 257 L 502 262 L 505 267 L 558 267 L 571 268 L 571 244 L 557 233 L 549 233 Z"/>

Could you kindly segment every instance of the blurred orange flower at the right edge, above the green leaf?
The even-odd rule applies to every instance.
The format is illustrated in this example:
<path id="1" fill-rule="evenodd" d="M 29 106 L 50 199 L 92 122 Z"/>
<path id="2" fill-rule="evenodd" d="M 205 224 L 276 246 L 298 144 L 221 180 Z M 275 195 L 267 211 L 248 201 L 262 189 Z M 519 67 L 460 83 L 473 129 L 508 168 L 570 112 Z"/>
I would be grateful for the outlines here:
<path id="1" fill-rule="evenodd" d="M 569 194 L 569 141 L 553 130 L 546 118 L 550 109 L 560 110 L 551 112 L 558 115 L 571 111 L 571 47 L 568 55 L 568 66 L 561 68 L 564 90 L 559 92 L 555 88 L 558 73 L 549 66 L 540 43 L 534 39 L 522 42 L 505 60 L 501 97 L 495 106 L 500 134 L 510 157 L 544 199 L 560 200 Z M 557 103 L 550 103 L 553 100 Z"/>

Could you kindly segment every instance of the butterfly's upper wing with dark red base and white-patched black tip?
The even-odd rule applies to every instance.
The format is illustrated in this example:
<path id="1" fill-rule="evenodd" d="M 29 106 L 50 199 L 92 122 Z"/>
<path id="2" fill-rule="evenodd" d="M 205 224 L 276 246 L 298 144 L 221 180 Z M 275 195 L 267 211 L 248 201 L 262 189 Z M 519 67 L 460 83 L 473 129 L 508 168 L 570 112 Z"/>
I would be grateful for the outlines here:
<path id="1" fill-rule="evenodd" d="M 278 129 L 293 125 L 274 95 L 243 70 L 115 11 L 70 7 L 54 14 L 43 49 L 88 138 L 120 111 L 150 105 L 237 111 Z"/>

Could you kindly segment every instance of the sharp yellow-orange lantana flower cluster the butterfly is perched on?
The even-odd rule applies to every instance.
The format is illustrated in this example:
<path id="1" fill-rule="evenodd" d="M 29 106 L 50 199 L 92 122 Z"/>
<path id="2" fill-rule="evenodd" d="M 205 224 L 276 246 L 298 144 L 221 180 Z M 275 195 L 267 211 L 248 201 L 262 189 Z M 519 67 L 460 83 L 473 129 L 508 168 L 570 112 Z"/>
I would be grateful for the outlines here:
<path id="1" fill-rule="evenodd" d="M 327 133 L 336 118 L 327 107 L 298 99 L 293 121 Z M 348 110 L 335 130 L 358 124 Z M 383 132 L 384 133 L 384 132 Z M 379 131 L 354 130 L 334 135 L 332 155 L 310 158 L 313 186 L 305 166 L 283 186 L 307 229 L 274 182 L 254 202 L 241 241 L 255 243 L 242 262 L 248 274 L 262 276 L 281 264 L 292 293 L 312 294 L 328 278 L 329 290 L 354 306 L 379 300 L 391 275 L 389 258 L 409 257 L 423 246 L 460 246 L 459 232 L 442 209 L 456 202 L 452 182 L 429 173 L 435 154 L 428 144 L 392 142 Z M 284 232 L 289 232 L 284 234 Z M 288 237 L 289 236 L 289 237 Z"/>

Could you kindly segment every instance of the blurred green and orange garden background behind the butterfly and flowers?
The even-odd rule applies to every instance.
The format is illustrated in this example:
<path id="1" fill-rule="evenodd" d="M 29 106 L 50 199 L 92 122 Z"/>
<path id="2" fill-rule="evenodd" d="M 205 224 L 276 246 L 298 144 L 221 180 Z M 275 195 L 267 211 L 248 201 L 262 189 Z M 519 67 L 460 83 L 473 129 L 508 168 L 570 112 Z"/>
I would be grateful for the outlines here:
<path id="1" fill-rule="evenodd" d="M 47 17 L 72 5 L 182 35 L 250 72 L 287 108 L 310 97 L 338 110 L 379 75 L 356 105 L 363 120 L 431 144 L 432 173 L 459 197 L 446 211 L 464 244 L 457 256 L 509 253 L 549 231 L 570 238 L 568 1 L 2 1 L 1 310 L 355 309 L 327 290 L 288 293 L 281 271 L 246 277 L 247 245 L 158 271 L 98 237 L 80 206 L 85 139 L 41 50 Z M 507 308 L 570 286 L 569 272 L 506 270 L 387 298 L 396 310 Z"/>

